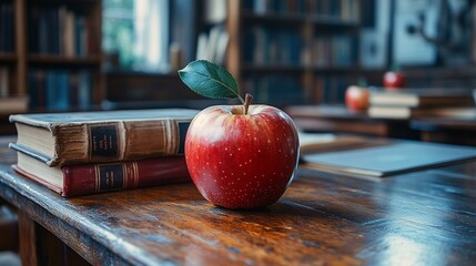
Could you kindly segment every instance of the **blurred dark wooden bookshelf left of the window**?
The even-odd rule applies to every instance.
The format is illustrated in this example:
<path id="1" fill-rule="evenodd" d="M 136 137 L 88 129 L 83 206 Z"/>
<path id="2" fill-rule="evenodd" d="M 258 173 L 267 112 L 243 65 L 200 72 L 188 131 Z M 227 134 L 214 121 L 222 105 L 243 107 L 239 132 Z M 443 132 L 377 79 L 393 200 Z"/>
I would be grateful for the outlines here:
<path id="1" fill-rule="evenodd" d="M 26 102 L 3 115 L 89 110 L 102 101 L 101 9 L 101 0 L 0 1 L 0 101 Z"/>

